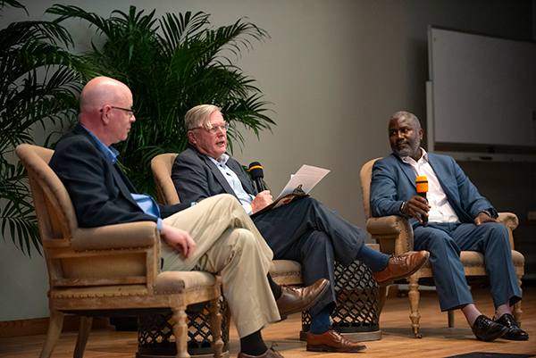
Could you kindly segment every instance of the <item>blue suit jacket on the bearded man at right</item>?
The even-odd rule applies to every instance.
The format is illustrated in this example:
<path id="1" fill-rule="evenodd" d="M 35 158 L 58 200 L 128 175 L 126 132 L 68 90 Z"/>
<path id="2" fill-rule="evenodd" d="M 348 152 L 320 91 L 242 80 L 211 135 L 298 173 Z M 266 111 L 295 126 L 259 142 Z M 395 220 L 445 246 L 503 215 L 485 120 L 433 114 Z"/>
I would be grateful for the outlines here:
<path id="1" fill-rule="evenodd" d="M 473 223 L 482 210 L 498 214 L 490 202 L 481 196 L 476 187 L 454 158 L 448 155 L 428 154 L 428 161 L 445 191 L 448 203 L 464 223 Z M 400 205 L 417 195 L 415 173 L 411 165 L 402 162 L 396 154 L 374 162 L 371 182 L 371 210 L 374 217 L 398 215 Z M 411 220 L 412 225 L 418 221 Z"/>

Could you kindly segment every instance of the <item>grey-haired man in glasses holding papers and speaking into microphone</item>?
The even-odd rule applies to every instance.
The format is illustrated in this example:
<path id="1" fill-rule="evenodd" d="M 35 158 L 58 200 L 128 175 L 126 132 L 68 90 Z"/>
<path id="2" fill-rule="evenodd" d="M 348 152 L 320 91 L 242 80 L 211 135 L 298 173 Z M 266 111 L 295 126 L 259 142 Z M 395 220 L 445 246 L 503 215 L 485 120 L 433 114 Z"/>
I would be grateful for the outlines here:
<path id="1" fill-rule="evenodd" d="M 227 193 L 236 196 L 249 214 L 272 203 L 270 192 L 258 193 L 240 163 L 225 154 L 228 123 L 218 107 L 203 104 L 190 109 L 185 126 L 191 146 L 177 156 L 172 168 L 181 202 L 199 202 Z M 364 349 L 364 345 L 348 340 L 331 327 L 330 313 L 337 302 L 333 288 L 335 259 L 343 265 L 355 260 L 364 262 L 373 271 L 374 279 L 387 284 L 415 272 L 428 257 L 428 253 L 421 252 L 389 258 L 373 251 L 363 245 L 364 230 L 311 197 L 254 215 L 252 219 L 275 259 L 302 264 L 306 285 L 322 278 L 331 282 L 330 290 L 309 309 L 312 319 L 308 351 L 348 353 Z"/>

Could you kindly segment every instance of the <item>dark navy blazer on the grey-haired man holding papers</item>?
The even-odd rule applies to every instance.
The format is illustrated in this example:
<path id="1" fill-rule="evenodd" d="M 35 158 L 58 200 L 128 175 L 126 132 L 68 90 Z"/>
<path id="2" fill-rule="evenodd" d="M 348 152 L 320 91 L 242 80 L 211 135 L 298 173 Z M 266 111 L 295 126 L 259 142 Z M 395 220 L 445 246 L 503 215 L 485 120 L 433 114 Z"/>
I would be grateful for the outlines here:
<path id="1" fill-rule="evenodd" d="M 256 196 L 258 192 L 240 163 L 229 158 L 227 165 L 237 174 L 244 190 Z M 172 167 L 172 179 L 182 203 L 199 202 L 224 193 L 237 196 L 216 164 L 194 146 L 177 155 Z"/>

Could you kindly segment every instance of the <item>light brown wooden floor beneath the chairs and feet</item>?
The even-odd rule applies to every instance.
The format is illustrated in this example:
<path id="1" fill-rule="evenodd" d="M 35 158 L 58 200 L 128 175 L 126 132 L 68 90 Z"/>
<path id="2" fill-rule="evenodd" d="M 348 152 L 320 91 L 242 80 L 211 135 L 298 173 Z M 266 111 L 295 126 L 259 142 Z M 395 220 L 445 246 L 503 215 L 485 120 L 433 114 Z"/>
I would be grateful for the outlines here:
<path id="1" fill-rule="evenodd" d="M 487 289 L 473 289 L 475 303 L 483 314 L 493 315 L 493 304 Z M 421 333 L 423 338 L 413 337 L 409 321 L 409 304 L 407 297 L 389 295 L 381 313 L 381 340 L 365 342 L 367 349 L 358 355 L 368 357 L 449 357 L 475 352 L 489 354 L 507 354 L 504 357 L 527 354 L 536 356 L 536 287 L 523 287 L 523 329 L 531 337 L 528 341 L 507 341 L 498 339 L 493 342 L 481 342 L 475 339 L 467 326 L 464 316 L 457 311 L 456 327 L 449 329 L 447 313 L 440 312 L 434 292 L 424 292 L 421 296 L 420 312 Z M 321 354 L 306 352 L 306 343 L 298 339 L 301 329 L 300 314 L 273 324 L 263 330 L 263 337 L 268 346 L 274 347 L 287 358 L 313 357 L 335 358 L 349 354 Z M 63 333 L 56 346 L 53 357 L 72 357 L 76 343 L 76 332 Z M 45 335 L 14 337 L 0 339 L 0 357 L 21 358 L 38 357 Z M 126 358 L 135 357 L 137 352 L 136 332 L 116 332 L 114 329 L 98 329 L 91 332 L 84 357 Z M 230 333 L 230 358 L 239 353 L 239 338 L 236 330 Z M 469 355 L 466 355 L 467 357 Z M 482 355 L 484 356 L 484 355 Z M 493 355 L 487 355 L 493 357 Z M 522 355 L 523 356 L 523 355 Z"/>

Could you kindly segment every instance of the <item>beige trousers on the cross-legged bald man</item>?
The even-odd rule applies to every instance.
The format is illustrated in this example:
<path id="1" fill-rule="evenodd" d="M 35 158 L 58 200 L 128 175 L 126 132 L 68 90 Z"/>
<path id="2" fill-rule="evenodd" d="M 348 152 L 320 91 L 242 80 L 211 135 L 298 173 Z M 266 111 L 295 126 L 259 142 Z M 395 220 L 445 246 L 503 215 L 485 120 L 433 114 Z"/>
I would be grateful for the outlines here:
<path id="1" fill-rule="evenodd" d="M 236 197 L 211 196 L 163 220 L 188 231 L 196 241 L 189 259 L 162 240 L 163 271 L 208 271 L 222 275 L 239 337 L 279 321 L 280 315 L 266 275 L 272 250 Z"/>

